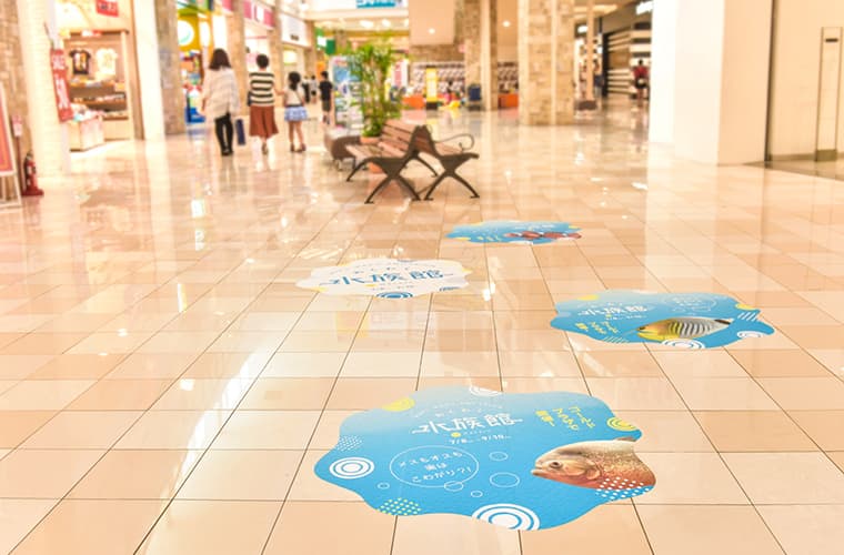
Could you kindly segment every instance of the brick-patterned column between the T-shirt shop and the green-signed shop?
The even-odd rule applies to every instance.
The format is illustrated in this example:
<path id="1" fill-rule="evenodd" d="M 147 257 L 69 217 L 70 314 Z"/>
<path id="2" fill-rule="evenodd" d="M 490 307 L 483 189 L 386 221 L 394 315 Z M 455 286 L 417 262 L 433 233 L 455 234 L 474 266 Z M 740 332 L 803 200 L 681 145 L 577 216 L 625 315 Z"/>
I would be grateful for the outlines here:
<path id="1" fill-rule="evenodd" d="M 161 103 L 164 110 L 164 133 L 183 133 L 184 92 L 182 90 L 181 52 L 179 50 L 179 13 L 172 0 L 155 0 Z M 143 71 L 143 68 L 139 68 Z"/>

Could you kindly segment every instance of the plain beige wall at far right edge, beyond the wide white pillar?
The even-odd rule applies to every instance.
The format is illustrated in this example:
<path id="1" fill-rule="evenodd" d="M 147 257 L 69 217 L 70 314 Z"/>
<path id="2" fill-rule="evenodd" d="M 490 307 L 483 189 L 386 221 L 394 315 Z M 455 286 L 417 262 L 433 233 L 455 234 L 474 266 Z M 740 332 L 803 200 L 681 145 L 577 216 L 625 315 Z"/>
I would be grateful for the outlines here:
<path id="1" fill-rule="evenodd" d="M 844 27 L 844 1 L 777 0 L 768 120 L 773 158 L 814 155 L 823 27 Z M 844 94 L 838 113 L 838 151 L 844 152 Z"/>

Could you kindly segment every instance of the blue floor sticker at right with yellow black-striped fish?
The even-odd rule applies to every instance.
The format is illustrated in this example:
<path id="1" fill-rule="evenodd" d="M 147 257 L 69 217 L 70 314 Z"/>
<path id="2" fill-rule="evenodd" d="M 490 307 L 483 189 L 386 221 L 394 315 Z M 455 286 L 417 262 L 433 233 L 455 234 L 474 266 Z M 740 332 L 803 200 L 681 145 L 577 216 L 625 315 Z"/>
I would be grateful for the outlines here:
<path id="1" fill-rule="evenodd" d="M 559 303 L 551 325 L 609 343 L 711 349 L 774 333 L 758 315 L 757 309 L 714 293 L 605 291 Z"/>

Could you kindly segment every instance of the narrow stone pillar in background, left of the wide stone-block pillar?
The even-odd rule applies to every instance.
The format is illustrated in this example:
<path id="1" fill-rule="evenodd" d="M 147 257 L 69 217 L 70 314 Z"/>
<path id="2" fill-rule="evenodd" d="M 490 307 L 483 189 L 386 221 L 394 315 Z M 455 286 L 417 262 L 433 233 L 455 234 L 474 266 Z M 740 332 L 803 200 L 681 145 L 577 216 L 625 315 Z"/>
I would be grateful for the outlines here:
<path id="1" fill-rule="evenodd" d="M 463 6 L 466 88 L 479 83 L 483 109 L 495 110 L 499 108 L 498 1 L 465 0 Z"/>

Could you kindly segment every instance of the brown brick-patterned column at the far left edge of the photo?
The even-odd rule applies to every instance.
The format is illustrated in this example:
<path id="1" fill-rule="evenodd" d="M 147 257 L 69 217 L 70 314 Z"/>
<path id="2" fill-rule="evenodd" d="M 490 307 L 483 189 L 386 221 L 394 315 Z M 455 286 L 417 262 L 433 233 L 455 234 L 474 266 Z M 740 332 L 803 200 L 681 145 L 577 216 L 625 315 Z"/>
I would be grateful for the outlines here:
<path id="1" fill-rule="evenodd" d="M 0 60 L 20 60 L 20 29 L 18 23 L 18 6 L 16 2 L 0 2 Z M 20 141 L 21 155 L 27 153 L 32 139 L 30 137 L 27 103 L 27 85 L 23 65 L 20 63 L 0 64 L 0 84 L 6 92 L 6 103 L 9 115 L 18 115 L 23 122 L 23 137 Z"/>

